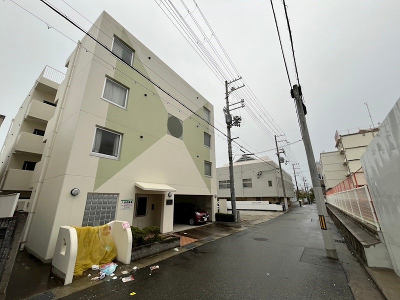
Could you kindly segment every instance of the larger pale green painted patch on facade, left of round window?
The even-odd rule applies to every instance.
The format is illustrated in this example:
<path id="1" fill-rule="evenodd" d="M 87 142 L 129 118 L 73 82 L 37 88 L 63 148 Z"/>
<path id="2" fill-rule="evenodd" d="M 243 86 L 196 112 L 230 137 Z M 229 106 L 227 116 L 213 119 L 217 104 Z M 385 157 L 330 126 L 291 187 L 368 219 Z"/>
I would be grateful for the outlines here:
<path id="1" fill-rule="evenodd" d="M 129 40 L 126 34 L 122 34 L 121 39 L 125 42 Z M 143 64 L 134 57 L 133 66 L 147 75 Z M 99 158 L 94 190 L 166 134 L 167 112 L 156 97 L 158 94 L 154 85 L 120 60 L 116 61 L 115 67 L 137 83 L 119 71 L 114 73 L 113 78 L 129 88 L 126 109 L 109 104 L 105 121 L 106 128 L 123 133 L 120 159 Z M 147 96 L 144 96 L 145 93 Z"/>

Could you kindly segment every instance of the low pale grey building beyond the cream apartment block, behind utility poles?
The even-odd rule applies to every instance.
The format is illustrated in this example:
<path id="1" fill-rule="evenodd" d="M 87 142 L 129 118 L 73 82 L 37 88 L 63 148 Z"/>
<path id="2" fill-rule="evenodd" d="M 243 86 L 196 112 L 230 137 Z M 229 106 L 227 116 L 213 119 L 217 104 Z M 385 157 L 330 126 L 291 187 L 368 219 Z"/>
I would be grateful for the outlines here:
<path id="1" fill-rule="evenodd" d="M 279 165 L 268 157 L 254 159 L 248 155 L 241 156 L 233 163 L 235 196 L 238 201 L 263 200 L 269 203 L 283 203 Z M 291 176 L 283 170 L 284 187 L 287 203 L 294 198 Z M 218 198 L 230 200 L 229 165 L 216 168 Z"/>

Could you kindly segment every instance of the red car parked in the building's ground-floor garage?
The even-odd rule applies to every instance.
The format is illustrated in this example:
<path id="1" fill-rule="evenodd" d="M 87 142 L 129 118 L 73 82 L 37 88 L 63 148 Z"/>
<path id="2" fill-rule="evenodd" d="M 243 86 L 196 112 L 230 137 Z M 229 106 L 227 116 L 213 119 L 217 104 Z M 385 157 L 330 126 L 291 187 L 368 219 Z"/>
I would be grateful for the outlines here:
<path id="1" fill-rule="evenodd" d="M 198 208 L 193 203 L 175 203 L 173 206 L 173 221 L 175 223 L 188 223 L 198 225 L 209 220 L 206 210 Z"/>

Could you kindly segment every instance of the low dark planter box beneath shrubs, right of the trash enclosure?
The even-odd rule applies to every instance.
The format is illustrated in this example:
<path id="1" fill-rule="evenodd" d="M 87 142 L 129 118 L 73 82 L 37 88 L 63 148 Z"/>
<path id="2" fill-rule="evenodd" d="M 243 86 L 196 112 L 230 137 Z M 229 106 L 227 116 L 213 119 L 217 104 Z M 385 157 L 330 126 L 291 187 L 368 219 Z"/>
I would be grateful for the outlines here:
<path id="1" fill-rule="evenodd" d="M 132 248 L 130 262 L 176 248 L 180 245 L 180 236 L 168 237 L 164 240 Z"/>

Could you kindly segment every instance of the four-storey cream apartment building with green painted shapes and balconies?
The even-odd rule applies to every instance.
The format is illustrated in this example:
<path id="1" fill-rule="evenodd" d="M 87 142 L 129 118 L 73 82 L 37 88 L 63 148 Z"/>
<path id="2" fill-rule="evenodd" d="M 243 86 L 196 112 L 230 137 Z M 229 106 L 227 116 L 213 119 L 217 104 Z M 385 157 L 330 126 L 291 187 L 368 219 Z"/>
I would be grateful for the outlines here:
<path id="1" fill-rule="evenodd" d="M 25 195 L 23 242 L 43 261 L 61 225 L 118 219 L 166 233 L 174 201 L 216 212 L 214 133 L 202 119 L 213 123 L 213 106 L 106 12 L 89 32 L 109 50 L 84 36 L 64 79 L 39 76 L 0 158 L 1 190 Z"/>

